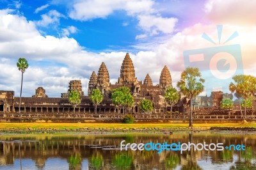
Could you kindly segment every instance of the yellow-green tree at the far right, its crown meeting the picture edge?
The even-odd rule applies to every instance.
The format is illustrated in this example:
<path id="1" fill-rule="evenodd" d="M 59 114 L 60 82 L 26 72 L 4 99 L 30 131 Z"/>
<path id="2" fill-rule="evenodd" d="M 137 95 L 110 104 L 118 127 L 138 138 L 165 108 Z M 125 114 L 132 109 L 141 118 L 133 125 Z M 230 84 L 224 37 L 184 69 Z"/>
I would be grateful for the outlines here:
<path id="1" fill-rule="evenodd" d="M 232 77 L 234 82 L 229 84 L 229 90 L 234 93 L 239 93 L 244 98 L 245 103 L 248 98 L 252 98 L 256 93 L 256 78 L 252 75 L 235 75 Z M 244 115 L 246 115 L 246 105 L 244 107 Z"/>

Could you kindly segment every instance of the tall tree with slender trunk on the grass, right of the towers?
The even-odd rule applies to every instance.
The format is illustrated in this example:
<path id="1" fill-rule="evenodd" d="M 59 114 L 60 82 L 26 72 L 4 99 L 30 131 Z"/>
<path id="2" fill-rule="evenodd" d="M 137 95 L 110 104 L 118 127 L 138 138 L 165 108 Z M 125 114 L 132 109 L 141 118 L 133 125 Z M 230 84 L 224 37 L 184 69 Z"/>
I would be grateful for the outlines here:
<path id="1" fill-rule="evenodd" d="M 188 67 L 180 75 L 180 81 L 177 82 L 177 87 L 180 92 L 186 95 L 190 100 L 189 127 L 192 125 L 192 98 L 196 97 L 204 91 L 204 79 L 201 77 L 199 68 Z"/>

